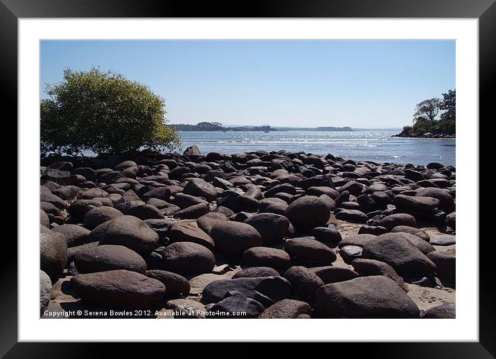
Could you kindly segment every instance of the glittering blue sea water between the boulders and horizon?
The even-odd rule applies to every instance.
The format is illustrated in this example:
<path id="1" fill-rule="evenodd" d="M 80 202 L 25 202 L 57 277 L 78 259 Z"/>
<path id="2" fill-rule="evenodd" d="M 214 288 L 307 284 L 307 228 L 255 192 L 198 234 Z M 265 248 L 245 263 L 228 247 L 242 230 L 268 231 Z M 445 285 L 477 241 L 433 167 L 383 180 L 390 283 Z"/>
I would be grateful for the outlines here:
<path id="1" fill-rule="evenodd" d="M 197 145 L 202 153 L 236 153 L 256 150 L 331 153 L 346 159 L 426 165 L 440 162 L 455 166 L 454 139 L 414 139 L 391 137 L 398 132 L 204 132 L 181 131 L 183 150 Z"/>

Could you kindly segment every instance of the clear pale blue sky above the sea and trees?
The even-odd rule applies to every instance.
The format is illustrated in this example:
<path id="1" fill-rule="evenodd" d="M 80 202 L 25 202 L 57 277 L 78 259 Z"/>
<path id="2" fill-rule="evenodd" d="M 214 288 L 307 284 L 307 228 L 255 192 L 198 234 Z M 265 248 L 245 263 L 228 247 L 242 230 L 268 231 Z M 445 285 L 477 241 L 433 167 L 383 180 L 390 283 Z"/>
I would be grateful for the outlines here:
<path id="1" fill-rule="evenodd" d="M 98 66 L 166 98 L 170 123 L 400 128 L 455 88 L 455 42 L 42 41 L 42 98 L 65 67 Z"/>

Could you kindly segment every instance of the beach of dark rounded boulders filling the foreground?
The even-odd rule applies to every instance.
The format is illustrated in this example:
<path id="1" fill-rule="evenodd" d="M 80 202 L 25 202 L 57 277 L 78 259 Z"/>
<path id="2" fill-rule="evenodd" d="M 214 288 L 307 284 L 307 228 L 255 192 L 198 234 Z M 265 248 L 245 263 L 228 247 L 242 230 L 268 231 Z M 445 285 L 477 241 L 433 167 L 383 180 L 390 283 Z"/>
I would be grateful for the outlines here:
<path id="1" fill-rule="evenodd" d="M 51 156 L 42 318 L 454 318 L 456 168 L 263 151 Z"/>

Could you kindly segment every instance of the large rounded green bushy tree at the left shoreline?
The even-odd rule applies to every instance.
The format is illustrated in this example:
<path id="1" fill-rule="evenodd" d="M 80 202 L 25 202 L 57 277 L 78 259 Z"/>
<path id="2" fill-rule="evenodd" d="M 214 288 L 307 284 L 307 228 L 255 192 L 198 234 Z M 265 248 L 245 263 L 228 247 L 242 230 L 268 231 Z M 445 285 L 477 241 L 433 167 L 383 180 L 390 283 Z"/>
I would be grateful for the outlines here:
<path id="1" fill-rule="evenodd" d="M 180 146 L 166 125 L 164 99 L 120 73 L 64 70 L 40 102 L 42 152 L 134 152 L 141 146 Z"/>

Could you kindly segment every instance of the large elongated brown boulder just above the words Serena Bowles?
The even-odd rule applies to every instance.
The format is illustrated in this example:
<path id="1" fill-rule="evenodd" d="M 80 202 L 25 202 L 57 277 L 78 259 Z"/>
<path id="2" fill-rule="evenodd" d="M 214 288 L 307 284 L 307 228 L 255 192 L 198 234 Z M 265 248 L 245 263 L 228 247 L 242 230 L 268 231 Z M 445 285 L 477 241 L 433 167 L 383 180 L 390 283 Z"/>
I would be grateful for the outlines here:
<path id="1" fill-rule="evenodd" d="M 130 270 L 78 274 L 70 283 L 83 301 L 98 306 L 148 308 L 166 294 L 161 281 Z"/>

